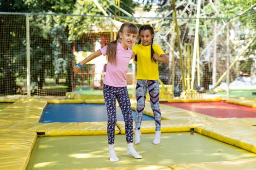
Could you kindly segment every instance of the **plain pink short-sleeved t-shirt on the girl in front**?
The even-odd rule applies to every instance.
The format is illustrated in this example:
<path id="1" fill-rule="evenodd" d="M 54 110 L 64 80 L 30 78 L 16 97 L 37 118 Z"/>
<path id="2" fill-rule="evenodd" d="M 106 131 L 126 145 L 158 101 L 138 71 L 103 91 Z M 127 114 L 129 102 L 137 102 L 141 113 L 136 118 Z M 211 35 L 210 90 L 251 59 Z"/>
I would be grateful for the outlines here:
<path id="1" fill-rule="evenodd" d="M 107 46 L 100 49 L 102 55 L 106 55 Z M 120 43 L 117 45 L 116 61 L 117 65 L 112 65 L 110 62 L 107 63 L 106 76 L 103 81 L 105 85 L 110 85 L 113 87 L 125 87 L 127 85 L 126 73 L 128 69 L 129 62 L 132 57 L 132 50 L 125 50 Z"/>

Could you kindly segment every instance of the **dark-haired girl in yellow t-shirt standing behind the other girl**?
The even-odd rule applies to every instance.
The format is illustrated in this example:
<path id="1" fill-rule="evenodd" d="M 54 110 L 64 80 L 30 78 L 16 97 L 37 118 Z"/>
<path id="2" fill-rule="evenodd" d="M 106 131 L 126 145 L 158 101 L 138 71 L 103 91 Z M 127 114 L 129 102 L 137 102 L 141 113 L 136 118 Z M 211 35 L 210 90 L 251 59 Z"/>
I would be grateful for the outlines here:
<path id="1" fill-rule="evenodd" d="M 138 44 L 132 49 L 135 61 L 137 61 L 137 86 L 136 86 L 136 126 L 135 126 L 135 144 L 140 141 L 140 123 L 142 120 L 143 110 L 147 90 L 150 96 L 151 108 L 154 112 L 156 123 L 156 135 L 153 144 L 160 143 L 161 134 L 161 112 L 159 108 L 159 72 L 158 62 L 168 63 L 168 59 L 163 50 L 153 44 L 154 29 L 150 25 L 143 25 L 139 28 L 138 34 L 140 39 Z"/>

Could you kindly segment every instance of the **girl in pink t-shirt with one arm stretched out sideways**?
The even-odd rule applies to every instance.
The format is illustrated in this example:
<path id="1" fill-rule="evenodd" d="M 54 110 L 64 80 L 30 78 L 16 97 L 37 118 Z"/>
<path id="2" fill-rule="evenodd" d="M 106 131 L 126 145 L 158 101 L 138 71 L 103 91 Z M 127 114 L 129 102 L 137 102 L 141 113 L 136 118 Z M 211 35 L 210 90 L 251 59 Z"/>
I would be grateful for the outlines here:
<path id="1" fill-rule="evenodd" d="M 123 23 L 115 41 L 109 42 L 105 47 L 89 55 L 78 65 L 73 67 L 73 71 L 76 74 L 83 65 L 101 54 L 107 55 L 108 57 L 106 76 L 103 81 L 103 95 L 108 116 L 107 134 L 110 161 L 119 161 L 114 147 L 115 127 L 117 122 L 116 100 L 118 100 L 125 122 L 127 154 L 131 154 L 137 159 L 142 158 L 133 147 L 133 115 L 126 87 L 126 72 L 129 61 L 133 55 L 129 47 L 135 42 L 137 33 L 138 28 L 136 25 L 129 22 Z M 118 39 L 121 40 L 120 43 Z"/>

